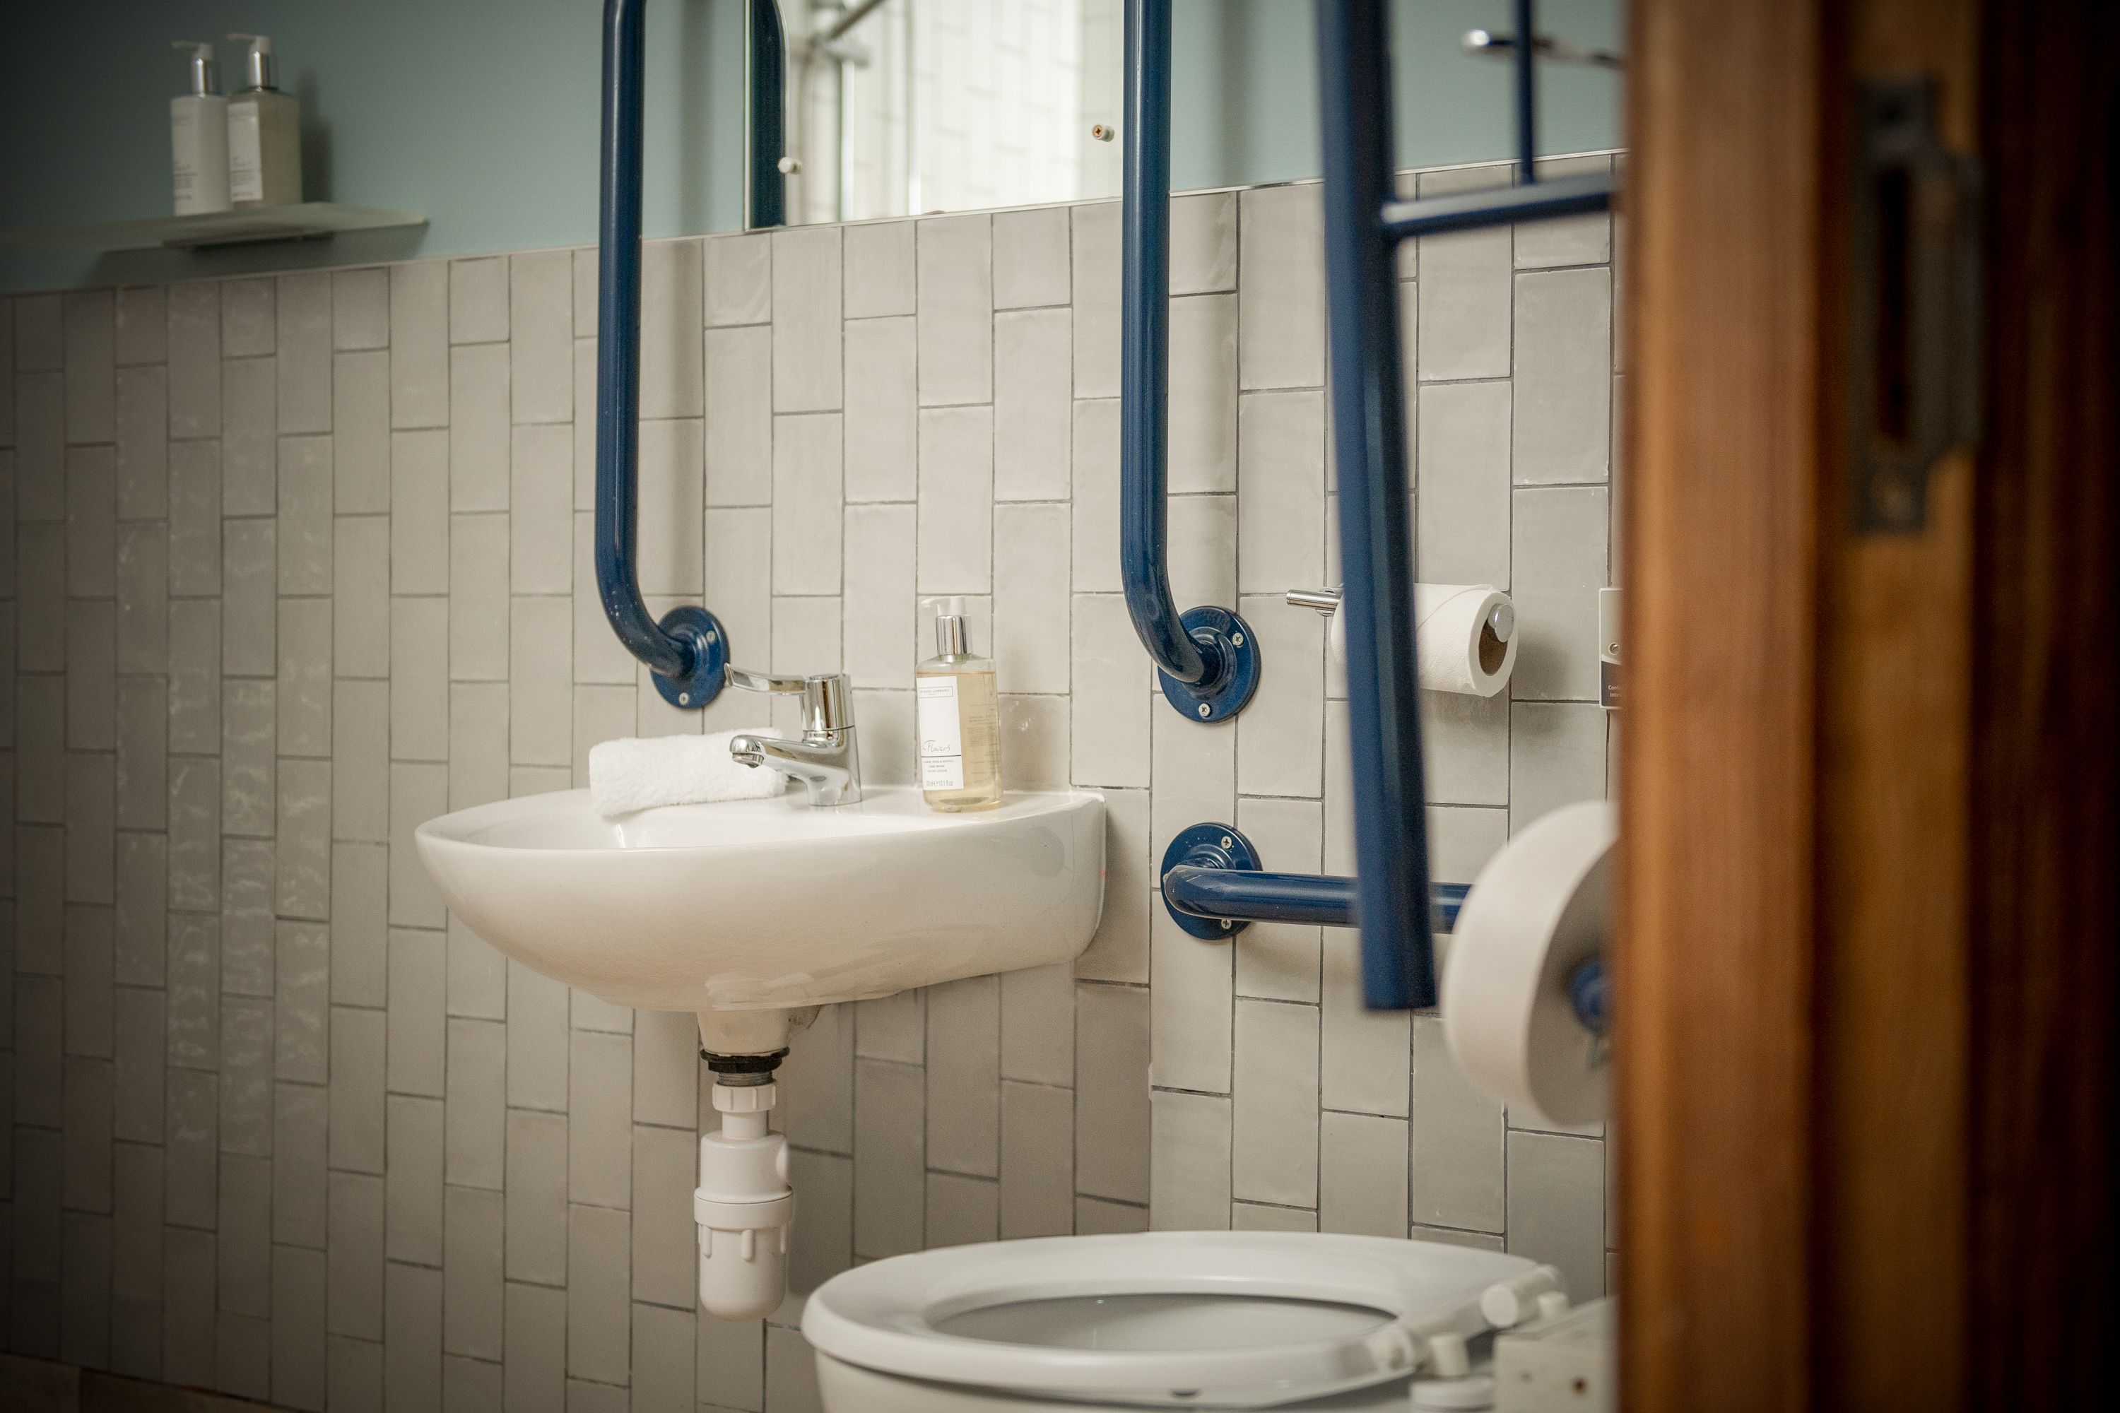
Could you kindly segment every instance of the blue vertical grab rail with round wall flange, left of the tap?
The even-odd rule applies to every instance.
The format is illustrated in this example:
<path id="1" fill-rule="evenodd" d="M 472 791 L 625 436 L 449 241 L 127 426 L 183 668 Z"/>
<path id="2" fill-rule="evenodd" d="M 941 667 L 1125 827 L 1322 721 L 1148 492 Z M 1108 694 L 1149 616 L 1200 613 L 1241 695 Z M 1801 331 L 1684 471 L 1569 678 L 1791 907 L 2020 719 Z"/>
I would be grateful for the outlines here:
<path id="1" fill-rule="evenodd" d="M 640 600 L 640 91 L 647 0 L 604 0 L 604 167 L 596 252 L 596 589 L 625 650 L 678 708 L 721 691 L 729 636 L 689 604 L 655 623 Z"/>

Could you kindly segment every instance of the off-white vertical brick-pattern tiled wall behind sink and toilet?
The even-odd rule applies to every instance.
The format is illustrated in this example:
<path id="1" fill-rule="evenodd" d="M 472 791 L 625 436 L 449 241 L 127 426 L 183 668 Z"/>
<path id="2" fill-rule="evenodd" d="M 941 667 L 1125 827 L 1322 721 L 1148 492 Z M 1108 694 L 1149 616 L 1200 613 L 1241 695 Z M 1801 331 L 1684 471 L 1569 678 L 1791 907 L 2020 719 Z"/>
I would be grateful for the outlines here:
<path id="1" fill-rule="evenodd" d="M 693 1307 L 691 1019 L 502 960 L 411 849 L 702 729 L 598 612 L 594 252 L 0 299 L 4 1343 L 295 1409 L 795 1413 L 801 1294 L 952 1241 L 1412 1233 L 1598 1292 L 1601 1131 L 1361 1010 L 1350 934 L 1202 943 L 1155 900 L 1200 820 L 1348 866 L 1346 688 L 1280 604 L 1338 559 L 1319 239 L 1314 184 L 1174 203 L 1172 578 L 1268 663 L 1223 727 L 1162 703 L 1119 597 L 1113 203 L 647 248 L 651 604 L 852 672 L 903 782 L 914 595 L 971 595 L 1011 786 L 1111 822 L 1075 966 L 795 1040 L 795 1292 L 736 1326 Z M 1423 576 L 1524 631 L 1516 701 L 1427 703 L 1448 881 L 1607 792 L 1609 258 L 1582 218 L 1401 263 Z"/>

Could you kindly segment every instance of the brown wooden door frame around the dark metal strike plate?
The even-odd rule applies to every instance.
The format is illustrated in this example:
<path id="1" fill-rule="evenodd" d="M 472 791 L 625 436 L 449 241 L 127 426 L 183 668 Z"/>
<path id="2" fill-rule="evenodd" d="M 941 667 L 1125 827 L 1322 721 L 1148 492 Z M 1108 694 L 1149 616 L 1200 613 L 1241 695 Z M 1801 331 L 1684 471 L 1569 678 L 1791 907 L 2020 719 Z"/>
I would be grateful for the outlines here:
<path id="1" fill-rule="evenodd" d="M 1635 0 L 1628 1409 L 2097 1388 L 2116 53 L 2086 0 Z M 1925 530 L 1859 536 L 1847 133 L 1857 76 L 1908 70 L 1986 165 L 1986 430 Z"/>

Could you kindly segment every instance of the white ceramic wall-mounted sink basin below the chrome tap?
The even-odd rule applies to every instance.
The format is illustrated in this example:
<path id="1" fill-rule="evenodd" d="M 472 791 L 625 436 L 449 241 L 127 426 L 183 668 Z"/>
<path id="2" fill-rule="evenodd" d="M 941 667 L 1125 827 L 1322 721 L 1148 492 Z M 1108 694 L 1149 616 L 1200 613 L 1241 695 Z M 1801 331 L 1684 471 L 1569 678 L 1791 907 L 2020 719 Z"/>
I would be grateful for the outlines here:
<path id="1" fill-rule="evenodd" d="M 774 1049 L 808 1006 L 1073 958 L 1105 894 L 1094 792 L 933 813 L 876 786 L 859 805 L 791 792 L 606 820 L 562 790 L 428 820 L 418 841 L 500 951 L 621 1006 L 700 1013 L 731 1049 Z"/>

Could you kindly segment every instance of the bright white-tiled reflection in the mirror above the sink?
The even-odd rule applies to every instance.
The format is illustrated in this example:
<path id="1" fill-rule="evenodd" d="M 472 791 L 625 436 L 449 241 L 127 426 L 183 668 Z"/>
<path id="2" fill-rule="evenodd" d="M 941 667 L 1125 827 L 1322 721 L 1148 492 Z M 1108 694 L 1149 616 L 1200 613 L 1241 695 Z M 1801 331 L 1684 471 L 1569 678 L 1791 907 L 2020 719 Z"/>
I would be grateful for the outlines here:
<path id="1" fill-rule="evenodd" d="M 787 220 L 1117 195 L 1119 15 L 1121 0 L 782 0 Z"/>

